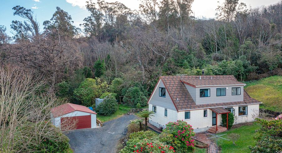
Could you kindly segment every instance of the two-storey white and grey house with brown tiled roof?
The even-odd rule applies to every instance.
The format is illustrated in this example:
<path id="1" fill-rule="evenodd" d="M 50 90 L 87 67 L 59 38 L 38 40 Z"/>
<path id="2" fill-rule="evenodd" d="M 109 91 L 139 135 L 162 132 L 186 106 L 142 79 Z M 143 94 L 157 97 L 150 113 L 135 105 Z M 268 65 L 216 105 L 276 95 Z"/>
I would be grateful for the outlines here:
<path id="1" fill-rule="evenodd" d="M 165 128 L 170 121 L 183 120 L 195 132 L 219 132 L 225 128 L 221 114 L 233 113 L 234 124 L 254 121 L 261 102 L 248 95 L 245 85 L 232 75 L 161 76 L 148 100 L 155 112 L 149 123 Z"/>

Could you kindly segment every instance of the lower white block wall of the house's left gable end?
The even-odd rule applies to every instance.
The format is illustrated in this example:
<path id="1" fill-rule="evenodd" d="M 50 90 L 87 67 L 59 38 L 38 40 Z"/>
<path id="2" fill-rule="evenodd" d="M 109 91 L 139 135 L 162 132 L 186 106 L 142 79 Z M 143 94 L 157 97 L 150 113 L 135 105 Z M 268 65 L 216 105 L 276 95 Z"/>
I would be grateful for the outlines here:
<path id="1" fill-rule="evenodd" d="M 176 121 L 177 120 L 177 111 L 173 111 L 167 109 L 167 116 L 165 116 L 165 108 L 164 107 L 157 107 L 157 112 L 154 113 L 154 116 L 149 118 L 149 123 L 156 127 L 162 126 L 165 128 L 165 124 L 168 122 Z M 149 104 L 149 111 L 152 111 L 153 105 Z"/>

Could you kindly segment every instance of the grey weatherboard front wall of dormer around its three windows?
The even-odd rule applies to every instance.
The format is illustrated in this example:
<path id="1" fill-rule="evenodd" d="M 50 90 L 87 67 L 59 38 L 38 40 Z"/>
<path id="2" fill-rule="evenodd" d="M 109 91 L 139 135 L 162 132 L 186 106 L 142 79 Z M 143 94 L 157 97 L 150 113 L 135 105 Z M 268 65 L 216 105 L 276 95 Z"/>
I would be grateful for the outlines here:
<path id="1" fill-rule="evenodd" d="M 232 95 L 232 87 L 241 87 L 241 95 Z M 217 88 L 228 88 L 226 89 L 226 96 L 217 96 Z M 210 89 L 210 97 L 200 97 L 200 89 Z M 244 101 L 244 86 L 196 87 L 196 105 L 234 101 Z"/>

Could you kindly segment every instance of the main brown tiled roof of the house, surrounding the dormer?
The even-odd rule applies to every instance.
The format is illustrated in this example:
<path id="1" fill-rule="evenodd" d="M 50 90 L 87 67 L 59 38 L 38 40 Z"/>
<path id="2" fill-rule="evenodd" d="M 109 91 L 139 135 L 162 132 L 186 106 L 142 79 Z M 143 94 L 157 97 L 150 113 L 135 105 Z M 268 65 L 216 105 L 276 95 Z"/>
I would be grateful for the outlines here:
<path id="1" fill-rule="evenodd" d="M 236 78 L 232 75 L 201 76 L 201 79 L 208 79 L 211 77 L 212 79 L 229 79 L 232 81 L 237 81 Z M 167 91 L 169 92 L 171 100 L 173 101 L 177 111 L 261 103 L 260 101 L 251 98 L 244 90 L 244 101 L 196 105 L 195 101 L 192 99 L 185 85 L 180 80 L 198 79 L 198 78 L 199 76 L 161 76 L 160 77 L 160 79 L 162 79 L 162 81 L 164 82 L 164 85 Z M 179 101 L 177 101 L 177 98 L 179 99 Z"/>

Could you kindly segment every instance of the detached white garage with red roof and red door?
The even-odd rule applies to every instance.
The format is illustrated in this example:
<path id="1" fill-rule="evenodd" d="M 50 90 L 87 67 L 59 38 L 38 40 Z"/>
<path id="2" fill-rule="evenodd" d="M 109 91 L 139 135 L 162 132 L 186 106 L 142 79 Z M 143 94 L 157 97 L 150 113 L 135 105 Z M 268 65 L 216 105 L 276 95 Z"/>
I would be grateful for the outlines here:
<path id="1" fill-rule="evenodd" d="M 51 110 L 51 122 L 62 130 L 96 128 L 96 114 L 86 106 L 65 103 Z"/>

